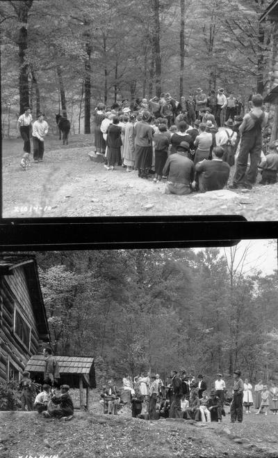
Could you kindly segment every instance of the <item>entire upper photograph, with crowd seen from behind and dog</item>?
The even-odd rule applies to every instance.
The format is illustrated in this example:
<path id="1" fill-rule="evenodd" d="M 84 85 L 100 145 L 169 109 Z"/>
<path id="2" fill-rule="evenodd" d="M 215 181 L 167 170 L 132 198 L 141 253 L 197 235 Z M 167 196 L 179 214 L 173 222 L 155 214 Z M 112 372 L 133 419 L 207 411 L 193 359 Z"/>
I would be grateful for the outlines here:
<path id="1" fill-rule="evenodd" d="M 278 221 L 278 0 L 0 5 L 3 218 Z"/>

